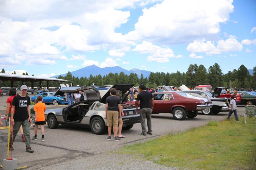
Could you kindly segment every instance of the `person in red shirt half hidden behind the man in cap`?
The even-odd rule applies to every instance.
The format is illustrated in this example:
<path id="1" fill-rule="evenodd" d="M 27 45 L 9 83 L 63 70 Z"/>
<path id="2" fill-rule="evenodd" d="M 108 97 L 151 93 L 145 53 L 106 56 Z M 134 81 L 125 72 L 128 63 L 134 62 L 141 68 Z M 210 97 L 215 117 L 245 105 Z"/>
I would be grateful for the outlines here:
<path id="1" fill-rule="evenodd" d="M 13 101 L 14 96 L 16 96 L 16 95 L 17 95 L 17 89 L 16 89 L 16 87 L 12 87 L 9 91 L 9 97 L 6 100 L 7 106 L 6 106 L 5 116 L 4 116 L 5 118 L 11 118 L 12 101 Z M 15 112 L 15 110 L 14 110 L 14 112 Z M 7 119 L 7 120 L 8 121 L 7 121 L 6 126 L 9 126 L 9 123 L 8 123 L 9 119 Z M 20 128 L 19 128 L 19 132 L 22 135 L 22 141 L 25 142 L 25 135 L 23 133 L 22 126 L 20 126 Z"/>

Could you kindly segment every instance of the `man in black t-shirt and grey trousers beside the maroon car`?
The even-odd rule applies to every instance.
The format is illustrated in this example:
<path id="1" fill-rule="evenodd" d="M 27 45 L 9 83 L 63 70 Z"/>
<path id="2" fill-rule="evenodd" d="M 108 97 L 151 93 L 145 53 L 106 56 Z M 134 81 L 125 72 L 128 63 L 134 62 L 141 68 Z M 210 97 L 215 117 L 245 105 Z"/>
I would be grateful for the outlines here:
<path id="1" fill-rule="evenodd" d="M 150 91 L 146 91 L 146 86 L 141 84 L 139 86 L 140 93 L 137 96 L 135 107 L 138 108 L 138 103 L 140 101 L 140 121 L 141 121 L 141 135 L 150 134 L 152 135 L 152 125 L 151 125 L 151 113 L 154 108 L 154 98 Z M 146 122 L 147 119 L 147 128 L 146 131 Z"/>

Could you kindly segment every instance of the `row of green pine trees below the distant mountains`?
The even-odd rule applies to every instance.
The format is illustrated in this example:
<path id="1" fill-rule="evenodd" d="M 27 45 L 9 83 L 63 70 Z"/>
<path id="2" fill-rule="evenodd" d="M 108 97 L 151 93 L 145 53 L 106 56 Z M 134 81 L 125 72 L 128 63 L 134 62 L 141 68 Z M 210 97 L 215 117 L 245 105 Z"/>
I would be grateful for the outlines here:
<path id="1" fill-rule="evenodd" d="M 177 72 L 151 72 L 150 75 L 144 78 L 143 74 L 140 78 L 136 73 L 130 73 L 130 75 L 124 74 L 124 72 L 109 73 L 107 75 L 96 75 L 87 77 L 74 77 L 70 71 L 66 76 L 59 75 L 58 79 L 65 79 L 67 83 L 73 83 L 73 85 L 113 85 L 116 83 L 129 83 L 134 84 L 134 86 L 139 86 L 140 84 L 145 84 L 146 87 L 153 86 L 154 88 L 161 85 L 180 87 L 182 84 L 187 87 L 195 87 L 196 85 L 209 84 L 215 87 L 228 87 L 228 88 L 241 88 L 244 87 L 248 89 L 250 87 L 256 88 L 256 66 L 253 68 L 253 75 L 250 75 L 248 69 L 241 65 L 238 69 L 233 69 L 224 74 L 221 67 L 215 63 L 214 65 L 207 68 L 204 65 L 190 64 L 187 71 L 181 73 Z M 5 72 L 4 69 L 1 71 Z M 14 72 L 15 73 L 15 72 Z M 14 74 L 13 73 L 13 74 Z M 23 75 L 28 75 L 28 73 L 23 73 Z M 42 86 L 46 86 L 46 82 L 42 82 Z M 14 86 L 19 87 L 21 82 L 14 82 Z M 28 86 L 31 85 L 30 82 L 26 82 Z M 1 87 L 10 87 L 10 81 L 4 81 L 0 84 Z M 34 82 L 34 87 L 38 87 L 39 82 Z M 59 82 L 49 81 L 50 87 L 59 87 Z"/>

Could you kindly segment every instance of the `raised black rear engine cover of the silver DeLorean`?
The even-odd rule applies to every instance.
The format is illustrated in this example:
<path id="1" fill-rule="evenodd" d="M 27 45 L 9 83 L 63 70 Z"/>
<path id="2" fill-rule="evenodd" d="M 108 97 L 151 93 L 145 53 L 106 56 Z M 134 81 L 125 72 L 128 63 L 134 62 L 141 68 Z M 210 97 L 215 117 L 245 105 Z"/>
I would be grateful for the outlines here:
<path id="1" fill-rule="evenodd" d="M 130 93 L 129 90 L 133 85 L 134 84 L 115 84 L 111 88 L 109 88 L 109 90 L 105 93 L 104 96 L 101 97 L 101 99 L 99 99 L 99 102 L 106 103 L 106 98 L 110 96 L 110 89 L 115 88 L 116 90 L 120 90 L 122 92 L 122 103 L 124 103 L 126 97 Z M 129 92 L 127 94 L 125 94 L 125 92 L 127 92 L 127 91 L 129 91 Z"/>

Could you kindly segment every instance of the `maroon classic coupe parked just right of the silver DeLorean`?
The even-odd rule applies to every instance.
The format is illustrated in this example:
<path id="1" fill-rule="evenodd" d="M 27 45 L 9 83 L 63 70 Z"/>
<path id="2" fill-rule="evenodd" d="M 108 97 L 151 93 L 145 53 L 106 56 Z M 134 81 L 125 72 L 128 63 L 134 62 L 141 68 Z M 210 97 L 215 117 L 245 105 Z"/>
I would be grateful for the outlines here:
<path id="1" fill-rule="evenodd" d="M 155 92 L 153 97 L 155 104 L 152 114 L 172 113 L 176 120 L 183 120 L 186 117 L 194 118 L 197 116 L 197 111 L 210 109 L 213 106 L 211 99 L 197 98 L 182 91 Z M 135 101 L 124 104 L 134 105 Z"/>

